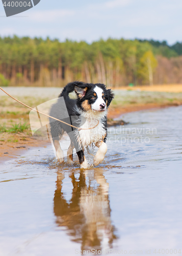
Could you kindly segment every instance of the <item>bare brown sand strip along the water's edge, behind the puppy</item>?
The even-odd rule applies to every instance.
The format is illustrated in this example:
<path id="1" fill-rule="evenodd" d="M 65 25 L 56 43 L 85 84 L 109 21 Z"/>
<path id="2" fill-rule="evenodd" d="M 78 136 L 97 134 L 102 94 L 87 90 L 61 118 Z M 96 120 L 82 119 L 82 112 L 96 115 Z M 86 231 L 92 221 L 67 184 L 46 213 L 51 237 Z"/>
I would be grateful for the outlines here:
<path id="1" fill-rule="evenodd" d="M 108 112 L 108 118 L 118 118 L 123 114 L 130 112 L 137 112 L 141 110 L 150 110 L 150 109 L 161 109 L 168 108 L 170 106 L 177 106 L 180 104 L 167 104 L 161 105 L 157 103 L 149 104 L 137 104 L 137 105 L 128 105 L 128 106 L 117 106 L 117 108 L 110 108 Z M 27 136 L 25 134 L 11 134 L 17 141 L 16 142 L 6 142 L 0 140 L 0 163 L 10 160 L 12 158 L 17 158 L 25 150 L 29 150 L 31 147 L 47 147 L 51 144 L 50 140 L 35 139 L 33 137 Z"/>

